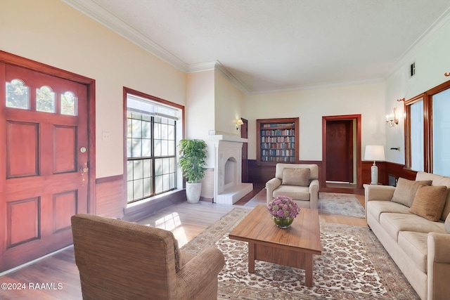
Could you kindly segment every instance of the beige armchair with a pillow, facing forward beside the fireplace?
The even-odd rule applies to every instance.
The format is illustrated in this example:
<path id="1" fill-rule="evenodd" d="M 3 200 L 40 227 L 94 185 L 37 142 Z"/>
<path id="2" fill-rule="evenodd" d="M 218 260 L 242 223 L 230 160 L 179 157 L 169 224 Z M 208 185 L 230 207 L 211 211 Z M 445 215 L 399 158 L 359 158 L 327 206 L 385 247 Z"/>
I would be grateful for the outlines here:
<path id="1" fill-rule="evenodd" d="M 267 203 L 278 196 L 292 198 L 300 208 L 317 209 L 319 200 L 317 164 L 276 164 L 275 178 L 266 182 Z"/>

